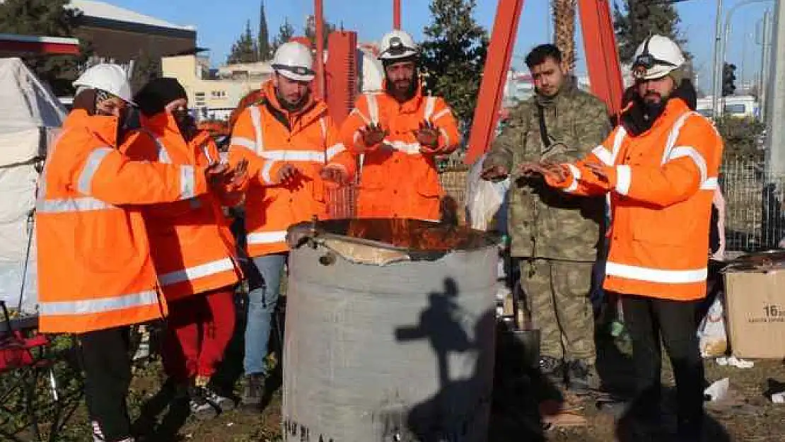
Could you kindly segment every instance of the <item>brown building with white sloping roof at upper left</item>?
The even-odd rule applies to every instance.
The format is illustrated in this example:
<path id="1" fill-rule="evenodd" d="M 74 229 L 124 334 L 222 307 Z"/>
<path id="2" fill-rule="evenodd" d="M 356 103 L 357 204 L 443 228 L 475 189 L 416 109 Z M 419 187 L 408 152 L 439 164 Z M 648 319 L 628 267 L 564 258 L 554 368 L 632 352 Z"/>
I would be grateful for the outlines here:
<path id="1" fill-rule="evenodd" d="M 82 12 L 76 37 L 91 42 L 97 61 L 130 64 L 141 56 L 158 59 L 195 53 L 196 28 L 180 26 L 94 0 L 72 0 Z"/>

